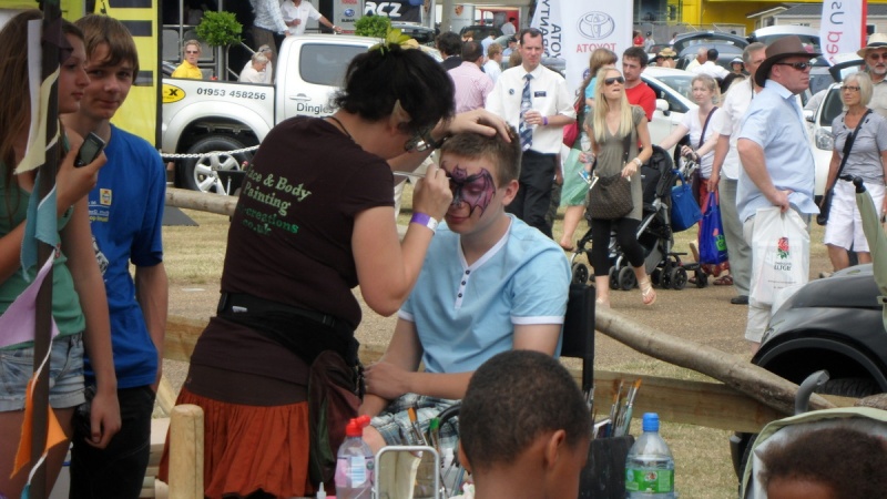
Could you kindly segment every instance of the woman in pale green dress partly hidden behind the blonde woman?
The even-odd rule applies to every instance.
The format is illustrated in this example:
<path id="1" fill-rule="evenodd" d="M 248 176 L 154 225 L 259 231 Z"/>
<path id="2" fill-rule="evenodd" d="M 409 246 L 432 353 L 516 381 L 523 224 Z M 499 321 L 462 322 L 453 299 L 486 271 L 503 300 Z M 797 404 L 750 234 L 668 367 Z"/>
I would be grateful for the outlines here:
<path id="1" fill-rule="evenodd" d="M 567 161 L 563 162 L 563 190 L 561 191 L 561 206 L 567 206 L 567 211 L 563 213 L 563 235 L 561 236 L 560 245 L 568 252 L 575 248 L 573 237 L 575 236 L 579 221 L 582 220 L 582 213 L 585 211 L 585 196 L 589 193 L 589 184 L 580 176 L 583 171 L 589 169 L 585 163 L 580 161 L 580 154 L 588 149 L 589 143 L 589 136 L 584 133 L 582 124 L 585 121 L 585 115 L 594 104 L 598 70 L 604 65 L 614 65 L 615 63 L 615 52 L 610 49 L 594 49 L 589 58 L 589 75 L 582 82 L 577 96 L 575 109 L 579 112 L 575 119 L 580 126 L 580 133 L 575 138 L 575 142 L 573 142 Z"/>

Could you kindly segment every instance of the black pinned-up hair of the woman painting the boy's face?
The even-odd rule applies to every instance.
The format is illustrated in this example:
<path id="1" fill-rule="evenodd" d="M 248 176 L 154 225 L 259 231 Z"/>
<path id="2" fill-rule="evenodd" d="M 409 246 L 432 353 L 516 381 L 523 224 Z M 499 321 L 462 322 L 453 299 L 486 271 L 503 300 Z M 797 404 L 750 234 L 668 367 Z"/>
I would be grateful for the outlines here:
<path id="1" fill-rule="evenodd" d="M 419 49 L 386 44 L 351 60 L 336 106 L 368 121 L 378 121 L 395 102 L 410 116 L 406 130 L 424 131 L 455 112 L 452 80 L 440 63 Z"/>

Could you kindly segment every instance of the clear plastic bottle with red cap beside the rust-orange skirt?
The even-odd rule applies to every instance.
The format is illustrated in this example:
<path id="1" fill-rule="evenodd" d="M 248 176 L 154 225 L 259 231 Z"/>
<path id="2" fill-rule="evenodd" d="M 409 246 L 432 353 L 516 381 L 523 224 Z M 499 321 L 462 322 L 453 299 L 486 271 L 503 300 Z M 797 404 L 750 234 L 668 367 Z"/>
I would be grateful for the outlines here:
<path id="1" fill-rule="evenodd" d="M 345 441 L 336 459 L 336 498 L 369 499 L 373 495 L 373 470 L 376 458 L 364 441 L 369 416 L 351 419 L 345 427 Z"/>

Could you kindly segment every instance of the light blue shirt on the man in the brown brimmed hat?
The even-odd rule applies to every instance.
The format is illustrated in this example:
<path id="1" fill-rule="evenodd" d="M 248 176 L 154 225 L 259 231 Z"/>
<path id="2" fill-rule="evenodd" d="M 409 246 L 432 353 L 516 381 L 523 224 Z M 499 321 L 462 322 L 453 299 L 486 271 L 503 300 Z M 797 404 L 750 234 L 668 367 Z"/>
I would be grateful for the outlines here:
<path id="1" fill-rule="evenodd" d="M 819 213 L 813 201 L 816 164 L 813 160 L 804 116 L 795 95 L 779 83 L 767 80 L 764 90 L 752 100 L 743 118 L 740 139 L 748 139 L 764 149 L 764 160 L 773 185 L 793 191 L 788 202 L 799 213 Z M 736 208 L 740 220 L 751 218 L 757 208 L 773 204 L 740 172 Z"/>

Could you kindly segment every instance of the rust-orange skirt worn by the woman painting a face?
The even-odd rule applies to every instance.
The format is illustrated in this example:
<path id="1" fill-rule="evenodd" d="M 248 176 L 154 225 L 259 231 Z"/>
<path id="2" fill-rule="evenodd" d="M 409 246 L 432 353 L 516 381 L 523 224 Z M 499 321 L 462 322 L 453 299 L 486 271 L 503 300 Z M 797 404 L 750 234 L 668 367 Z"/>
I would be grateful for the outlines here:
<path id="1" fill-rule="evenodd" d="M 201 397 L 182 388 L 176 405 L 204 411 L 203 483 L 208 498 L 258 490 L 278 498 L 315 492 L 308 478 L 308 403 L 257 407 Z M 167 481 L 170 436 L 159 478 Z"/>

